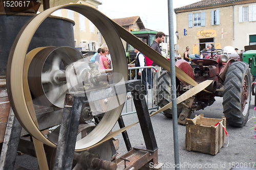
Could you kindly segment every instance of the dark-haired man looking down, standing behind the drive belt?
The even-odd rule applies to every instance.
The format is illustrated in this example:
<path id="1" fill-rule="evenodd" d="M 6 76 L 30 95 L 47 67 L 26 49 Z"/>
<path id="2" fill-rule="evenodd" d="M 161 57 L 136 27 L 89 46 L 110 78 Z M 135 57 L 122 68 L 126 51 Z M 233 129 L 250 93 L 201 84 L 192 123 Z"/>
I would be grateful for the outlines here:
<path id="1" fill-rule="evenodd" d="M 157 32 L 156 34 L 156 40 L 151 44 L 151 47 L 158 52 L 160 55 L 162 55 L 159 44 L 164 41 L 164 37 L 166 35 L 163 32 Z M 156 77 L 156 71 L 153 71 L 153 101 L 154 104 L 157 104 L 157 85 L 156 80 L 160 77 L 160 72 L 162 70 L 162 67 L 159 66 L 157 63 L 153 61 L 152 66 L 156 67 L 158 71 L 158 77 Z"/>

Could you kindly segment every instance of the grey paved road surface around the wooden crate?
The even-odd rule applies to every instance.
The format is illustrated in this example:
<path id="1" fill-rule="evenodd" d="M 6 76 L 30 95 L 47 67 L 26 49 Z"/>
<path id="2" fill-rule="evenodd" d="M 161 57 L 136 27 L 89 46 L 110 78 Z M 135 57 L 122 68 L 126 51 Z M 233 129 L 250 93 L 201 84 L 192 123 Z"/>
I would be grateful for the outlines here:
<path id="1" fill-rule="evenodd" d="M 132 100 L 127 100 L 131 102 Z M 252 113 L 256 113 L 253 110 L 254 96 L 251 100 L 251 109 L 249 118 L 252 117 Z M 131 107 L 129 107 L 131 109 Z M 128 109 L 129 110 L 129 109 Z M 130 110 L 131 111 L 131 110 Z M 206 107 L 204 110 L 195 111 L 191 115 L 199 115 L 203 113 L 204 117 L 221 118 L 223 116 L 222 98 L 216 98 L 216 102 Z M 125 125 L 130 125 L 138 120 L 136 114 L 130 114 L 123 116 Z M 159 161 L 164 163 L 163 169 L 175 169 L 174 166 L 174 143 L 173 143 L 173 120 L 166 118 L 163 114 L 157 114 L 151 118 L 154 133 L 158 144 L 158 158 Z M 179 160 L 180 169 L 230 169 L 232 165 L 244 165 L 247 167 L 256 168 L 256 139 L 254 139 L 254 130 L 250 129 L 254 126 L 255 120 L 249 121 L 246 126 L 242 128 L 234 128 L 227 125 L 226 129 L 229 135 L 229 145 L 227 145 L 227 138 L 225 147 L 221 149 L 217 155 L 203 154 L 199 152 L 188 152 L 185 147 L 185 126 L 178 125 L 179 132 Z M 116 125 L 113 130 L 119 129 Z M 133 147 L 138 145 L 144 145 L 142 133 L 139 124 L 127 130 L 130 137 L 130 141 Z M 118 157 L 126 153 L 125 144 L 122 136 L 118 135 L 119 150 Z M 38 165 L 36 159 L 30 160 L 26 155 L 17 156 L 16 164 L 28 169 L 36 169 Z"/>

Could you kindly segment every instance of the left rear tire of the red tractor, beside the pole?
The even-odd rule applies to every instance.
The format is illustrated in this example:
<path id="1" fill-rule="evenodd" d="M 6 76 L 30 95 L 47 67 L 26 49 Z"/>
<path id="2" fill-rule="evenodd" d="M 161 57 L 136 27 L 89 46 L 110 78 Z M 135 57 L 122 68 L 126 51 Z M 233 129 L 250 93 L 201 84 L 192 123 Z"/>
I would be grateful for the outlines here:
<path id="1" fill-rule="evenodd" d="M 158 86 L 157 86 L 157 98 L 158 98 L 158 106 L 161 108 L 172 102 L 171 98 L 171 84 L 170 84 L 170 72 L 161 71 L 161 76 L 158 78 Z M 182 111 L 182 105 L 177 105 L 177 116 L 179 117 Z M 173 117 L 173 110 L 167 109 L 163 111 L 163 114 L 168 117 Z"/>

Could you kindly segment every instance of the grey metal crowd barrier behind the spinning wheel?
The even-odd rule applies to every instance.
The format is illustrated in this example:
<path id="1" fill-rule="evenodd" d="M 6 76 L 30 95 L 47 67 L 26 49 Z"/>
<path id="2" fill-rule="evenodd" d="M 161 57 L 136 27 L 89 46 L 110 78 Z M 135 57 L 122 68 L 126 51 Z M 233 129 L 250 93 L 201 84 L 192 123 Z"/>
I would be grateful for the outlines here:
<path id="1" fill-rule="evenodd" d="M 147 108 L 148 108 L 148 110 L 158 109 L 157 103 L 155 106 L 153 103 L 153 73 L 152 73 L 152 70 L 156 71 L 156 77 L 158 77 L 157 69 L 154 66 L 129 67 L 128 71 L 130 72 L 130 80 L 132 80 L 132 75 L 133 75 L 134 71 L 135 71 L 134 79 L 137 79 L 137 69 L 140 69 L 140 68 L 150 69 L 150 71 L 146 70 L 146 92 L 147 92 L 147 94 L 145 95 L 145 99 L 146 99 Z M 148 72 L 150 72 L 150 75 L 148 75 Z M 151 77 L 151 88 L 150 89 L 148 88 L 149 84 L 147 85 L 148 76 Z M 142 84 L 142 78 L 141 78 L 141 84 Z M 158 86 L 157 79 L 156 79 L 156 86 Z M 152 112 L 154 112 L 154 111 L 152 111 Z M 133 113 L 136 113 L 136 109 L 135 109 L 135 106 L 133 103 L 133 96 L 131 95 L 131 92 L 129 92 L 129 93 L 127 93 L 127 99 L 124 104 L 121 115 L 128 115 L 128 114 L 133 114 Z"/>

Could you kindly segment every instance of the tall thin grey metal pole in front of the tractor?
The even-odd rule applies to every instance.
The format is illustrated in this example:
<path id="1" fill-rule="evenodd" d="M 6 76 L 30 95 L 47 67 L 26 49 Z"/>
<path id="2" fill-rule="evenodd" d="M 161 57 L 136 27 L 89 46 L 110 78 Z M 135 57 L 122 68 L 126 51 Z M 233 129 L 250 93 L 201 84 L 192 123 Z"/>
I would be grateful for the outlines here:
<path id="1" fill-rule="evenodd" d="M 178 118 L 176 100 L 176 76 L 175 76 L 175 56 L 174 56 L 174 12 L 173 0 L 168 0 L 168 25 L 169 25 L 169 50 L 170 50 L 170 81 L 173 107 L 173 133 L 174 133 L 174 161 L 175 169 L 180 169 L 179 159 L 179 139 L 178 139 Z"/>

